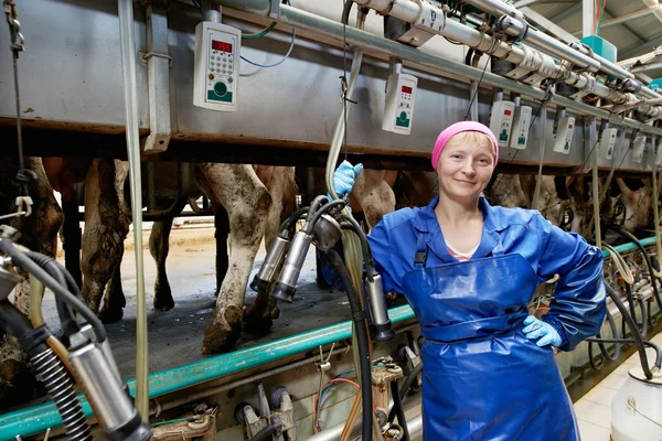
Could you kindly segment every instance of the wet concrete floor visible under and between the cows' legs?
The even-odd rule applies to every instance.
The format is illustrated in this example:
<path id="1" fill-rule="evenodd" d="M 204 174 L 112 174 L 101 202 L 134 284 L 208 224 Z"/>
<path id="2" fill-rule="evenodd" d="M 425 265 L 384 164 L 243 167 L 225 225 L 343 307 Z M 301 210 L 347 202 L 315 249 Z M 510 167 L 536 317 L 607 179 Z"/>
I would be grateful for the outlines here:
<path id="1" fill-rule="evenodd" d="M 145 234 L 145 240 L 149 232 Z M 167 269 L 175 306 L 170 311 L 152 308 L 153 283 L 157 268 L 149 250 L 143 250 L 145 287 L 148 304 L 149 325 L 149 372 L 181 366 L 202 359 L 200 348 L 216 303 L 214 270 L 214 229 L 210 227 L 186 227 L 172 230 L 171 248 Z M 136 258 L 132 247 L 132 233 L 129 234 L 121 276 L 127 305 L 120 322 L 106 325 L 113 353 L 119 365 L 122 378 L 135 378 L 136 369 Z M 260 247 L 253 275 L 257 272 L 265 257 Z M 60 258 L 58 260 L 62 260 Z M 350 308 L 343 292 L 330 289 L 320 290 L 316 283 L 314 254 L 309 252 L 295 301 L 280 305 L 280 318 L 274 322 L 270 334 L 258 337 L 244 333 L 237 348 L 247 347 L 264 341 L 281 338 L 350 319 Z M 247 289 L 246 303 L 255 301 L 256 293 Z M 43 303 L 46 323 L 53 332 L 60 331 L 53 294 L 46 292 Z"/>

